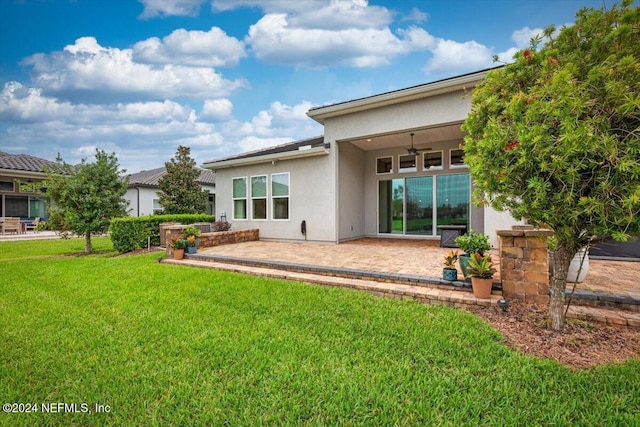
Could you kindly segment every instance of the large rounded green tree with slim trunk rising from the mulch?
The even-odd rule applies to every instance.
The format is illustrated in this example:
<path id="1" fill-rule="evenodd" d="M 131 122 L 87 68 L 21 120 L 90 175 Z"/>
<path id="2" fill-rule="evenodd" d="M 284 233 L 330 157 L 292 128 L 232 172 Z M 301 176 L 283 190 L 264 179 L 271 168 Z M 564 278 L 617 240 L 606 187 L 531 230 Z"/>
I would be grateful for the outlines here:
<path id="1" fill-rule="evenodd" d="M 640 9 L 582 9 L 554 34 L 487 73 L 463 130 L 476 201 L 555 232 L 550 317 L 561 330 L 574 254 L 640 233 Z"/>

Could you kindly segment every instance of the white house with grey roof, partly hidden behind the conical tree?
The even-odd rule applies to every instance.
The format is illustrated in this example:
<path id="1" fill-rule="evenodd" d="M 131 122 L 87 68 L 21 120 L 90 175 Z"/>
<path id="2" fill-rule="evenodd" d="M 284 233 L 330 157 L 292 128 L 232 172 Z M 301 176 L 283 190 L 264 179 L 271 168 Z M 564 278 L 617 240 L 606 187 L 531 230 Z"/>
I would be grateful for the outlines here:
<path id="1" fill-rule="evenodd" d="M 129 188 L 125 199 L 129 201 L 129 215 L 144 216 L 160 213 L 160 178 L 167 173 L 164 167 L 142 171 L 129 175 Z M 214 215 L 216 206 L 216 175 L 210 170 L 200 169 L 200 176 L 196 180 L 203 190 L 209 192 L 207 213 Z"/>

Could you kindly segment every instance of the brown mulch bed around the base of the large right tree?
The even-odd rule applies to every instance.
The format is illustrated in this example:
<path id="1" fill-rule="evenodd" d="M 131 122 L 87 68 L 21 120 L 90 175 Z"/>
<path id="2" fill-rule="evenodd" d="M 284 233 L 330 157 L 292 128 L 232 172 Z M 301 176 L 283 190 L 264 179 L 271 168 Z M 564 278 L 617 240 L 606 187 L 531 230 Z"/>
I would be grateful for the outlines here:
<path id="1" fill-rule="evenodd" d="M 567 319 L 564 331 L 556 332 L 549 326 L 547 305 L 518 301 L 512 301 L 507 312 L 495 306 L 467 310 L 499 331 L 516 351 L 554 359 L 574 369 L 640 357 L 639 329 Z"/>

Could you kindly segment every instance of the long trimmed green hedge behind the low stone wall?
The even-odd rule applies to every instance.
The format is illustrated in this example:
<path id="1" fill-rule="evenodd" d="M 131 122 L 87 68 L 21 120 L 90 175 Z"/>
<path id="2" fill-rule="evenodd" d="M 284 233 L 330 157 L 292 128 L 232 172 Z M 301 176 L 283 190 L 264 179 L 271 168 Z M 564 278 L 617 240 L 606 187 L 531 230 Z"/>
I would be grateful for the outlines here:
<path id="1" fill-rule="evenodd" d="M 160 224 L 178 222 L 193 224 L 195 222 L 214 222 L 215 216 L 207 214 L 147 215 L 140 217 L 114 218 L 111 221 L 111 241 L 118 252 L 131 252 L 147 247 L 147 239 L 151 237 L 151 245 L 160 245 Z"/>

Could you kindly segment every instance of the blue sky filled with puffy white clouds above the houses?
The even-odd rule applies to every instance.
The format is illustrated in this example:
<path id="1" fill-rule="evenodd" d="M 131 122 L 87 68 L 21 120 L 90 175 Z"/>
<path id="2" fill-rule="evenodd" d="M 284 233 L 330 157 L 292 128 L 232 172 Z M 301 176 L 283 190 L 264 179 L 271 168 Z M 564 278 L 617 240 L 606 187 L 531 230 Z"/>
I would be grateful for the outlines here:
<path id="1" fill-rule="evenodd" d="M 609 6 L 612 0 L 605 1 Z M 0 151 L 128 172 L 321 135 L 312 106 L 508 61 L 602 0 L 0 0 Z"/>

